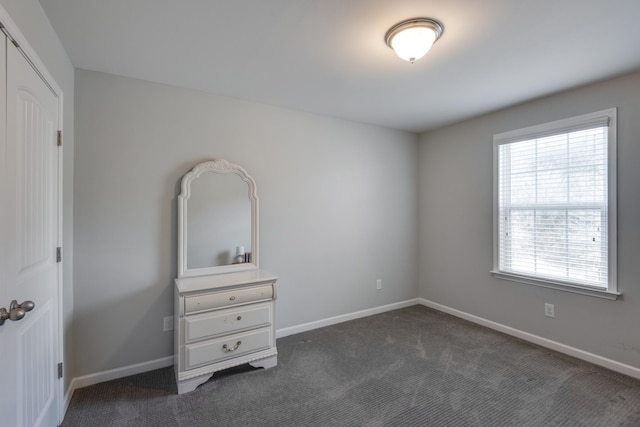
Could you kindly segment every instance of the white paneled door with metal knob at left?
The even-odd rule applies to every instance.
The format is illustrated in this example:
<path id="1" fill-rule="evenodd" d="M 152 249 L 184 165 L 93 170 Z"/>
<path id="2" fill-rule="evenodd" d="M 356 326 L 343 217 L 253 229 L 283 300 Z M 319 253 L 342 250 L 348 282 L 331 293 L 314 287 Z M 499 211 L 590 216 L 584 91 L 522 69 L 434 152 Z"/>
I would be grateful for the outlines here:
<path id="1" fill-rule="evenodd" d="M 12 300 L 35 303 L 21 320 L 0 326 L 0 424 L 56 426 L 58 98 L 6 37 L 0 44 L 2 62 L 6 58 L 6 66 L 0 64 L 6 72 L 0 76 L 6 108 L 0 113 L 0 307 L 10 311 Z"/>

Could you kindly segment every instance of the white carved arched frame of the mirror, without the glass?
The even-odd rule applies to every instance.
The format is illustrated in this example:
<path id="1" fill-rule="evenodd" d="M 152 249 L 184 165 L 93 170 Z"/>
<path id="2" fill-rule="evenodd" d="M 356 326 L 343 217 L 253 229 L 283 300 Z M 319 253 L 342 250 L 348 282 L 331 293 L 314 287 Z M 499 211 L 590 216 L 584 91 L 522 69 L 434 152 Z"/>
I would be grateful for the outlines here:
<path id="1" fill-rule="evenodd" d="M 191 197 L 191 183 L 204 173 L 233 173 L 238 175 L 249 188 L 251 201 L 251 262 L 231 265 L 220 265 L 203 268 L 188 268 L 187 264 L 187 210 Z M 256 182 L 239 165 L 225 159 L 213 159 L 198 163 L 182 177 L 180 195 L 178 195 L 178 277 L 205 276 L 237 271 L 254 270 L 258 268 L 258 194 Z"/>

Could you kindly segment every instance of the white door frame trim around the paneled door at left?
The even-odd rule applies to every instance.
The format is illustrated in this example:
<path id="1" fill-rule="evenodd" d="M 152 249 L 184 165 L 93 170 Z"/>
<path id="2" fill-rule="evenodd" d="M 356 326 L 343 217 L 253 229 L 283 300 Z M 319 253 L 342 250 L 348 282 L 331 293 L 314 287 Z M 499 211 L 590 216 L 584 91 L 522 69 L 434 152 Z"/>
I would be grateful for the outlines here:
<path id="1" fill-rule="evenodd" d="M 4 9 L 2 5 L 0 5 L 0 23 L 2 24 L 2 28 L 0 30 L 7 36 L 10 42 L 12 42 L 20 53 L 25 57 L 27 62 L 33 67 L 33 69 L 38 73 L 40 78 L 45 82 L 45 84 L 49 87 L 49 89 L 56 95 L 58 98 L 58 130 L 63 131 L 63 105 L 64 105 L 64 95 L 62 93 L 62 89 L 58 86 L 57 82 L 53 78 L 53 75 L 47 70 L 44 66 L 44 63 L 40 60 L 38 55 L 36 54 L 35 49 L 31 47 L 27 38 L 20 31 L 16 23 L 11 19 L 11 16 Z M 6 84 L 6 82 L 4 83 Z M 63 132 L 64 134 L 64 132 Z M 64 247 L 62 245 L 63 241 L 63 149 L 64 144 L 57 149 L 58 155 L 58 198 L 55 201 L 57 215 L 58 215 L 58 223 L 57 225 L 57 235 L 56 235 L 56 246 Z M 53 248 L 52 248 L 53 250 Z M 65 258 L 63 257 L 63 260 Z M 63 262 L 60 262 L 58 265 L 58 289 L 57 289 L 57 299 L 58 299 L 58 318 L 56 322 L 58 324 L 57 332 L 58 336 L 57 340 L 57 351 L 56 351 L 56 363 L 64 362 L 64 300 L 63 300 Z M 63 372 L 64 373 L 64 372 Z M 62 419 L 64 418 L 64 413 L 66 412 L 66 406 L 68 404 L 68 399 L 65 398 L 64 394 L 64 383 L 65 383 L 66 375 L 63 375 L 62 378 L 58 379 L 56 383 L 56 387 L 54 387 L 54 393 L 56 394 L 56 398 L 58 401 L 58 405 L 56 408 L 58 424 L 62 423 Z"/>

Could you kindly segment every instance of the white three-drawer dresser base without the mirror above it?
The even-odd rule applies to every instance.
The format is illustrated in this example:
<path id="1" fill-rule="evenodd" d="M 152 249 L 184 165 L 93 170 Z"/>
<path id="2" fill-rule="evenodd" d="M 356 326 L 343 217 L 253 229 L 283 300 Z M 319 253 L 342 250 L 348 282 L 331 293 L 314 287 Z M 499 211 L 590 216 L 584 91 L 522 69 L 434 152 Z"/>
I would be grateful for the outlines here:
<path id="1" fill-rule="evenodd" d="M 277 364 L 277 277 L 255 269 L 175 280 L 174 366 L 178 393 L 223 369 Z"/>

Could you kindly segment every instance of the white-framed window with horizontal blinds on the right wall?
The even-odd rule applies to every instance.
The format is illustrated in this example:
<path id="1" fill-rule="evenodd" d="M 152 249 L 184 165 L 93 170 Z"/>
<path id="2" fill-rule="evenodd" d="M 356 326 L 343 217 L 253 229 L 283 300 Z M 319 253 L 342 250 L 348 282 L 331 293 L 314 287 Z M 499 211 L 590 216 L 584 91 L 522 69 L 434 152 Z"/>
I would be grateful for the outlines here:
<path id="1" fill-rule="evenodd" d="M 615 299 L 615 108 L 493 141 L 493 275 Z"/>

